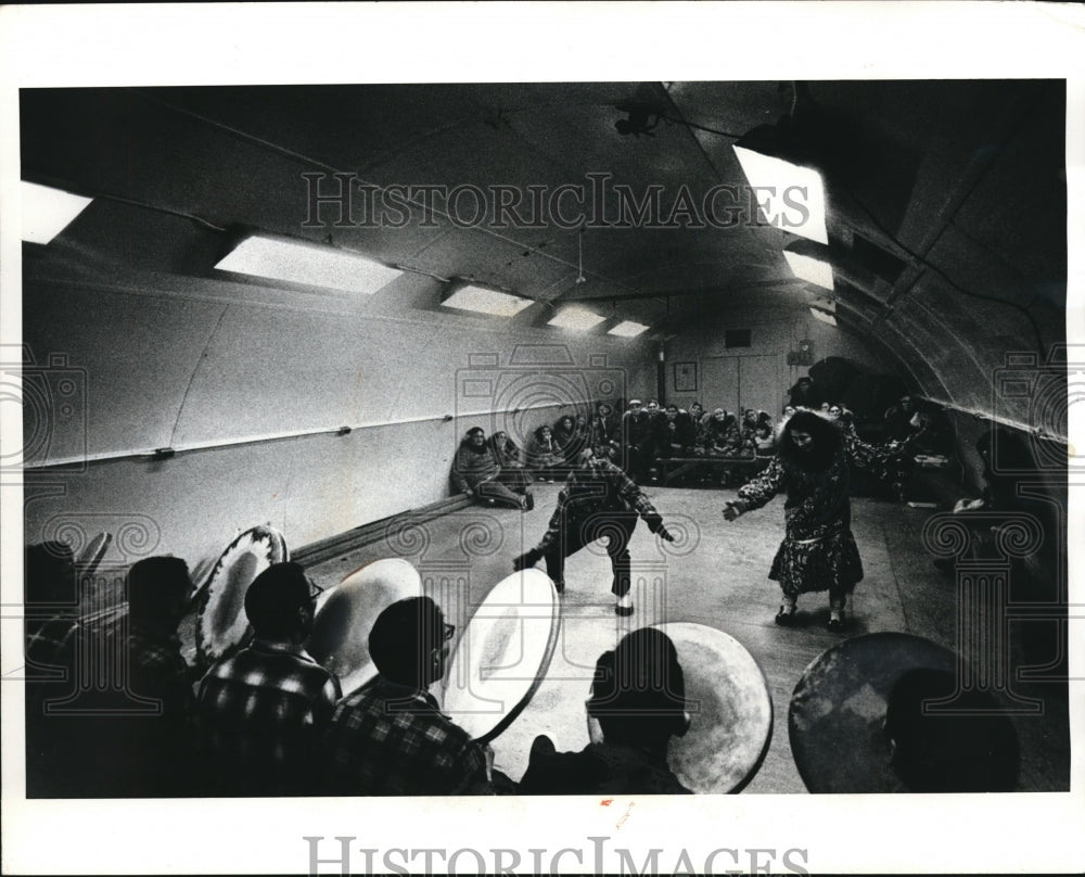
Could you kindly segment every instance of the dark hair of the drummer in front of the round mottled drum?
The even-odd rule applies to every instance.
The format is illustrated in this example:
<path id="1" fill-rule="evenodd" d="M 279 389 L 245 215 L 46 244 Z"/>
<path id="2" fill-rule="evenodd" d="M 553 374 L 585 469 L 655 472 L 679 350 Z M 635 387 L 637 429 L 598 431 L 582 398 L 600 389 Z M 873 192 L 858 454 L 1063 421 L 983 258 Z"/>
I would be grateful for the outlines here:
<path id="1" fill-rule="evenodd" d="M 626 634 L 596 662 L 588 714 L 609 742 L 665 743 L 686 728 L 686 679 L 674 643 L 662 631 Z"/>

